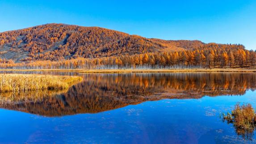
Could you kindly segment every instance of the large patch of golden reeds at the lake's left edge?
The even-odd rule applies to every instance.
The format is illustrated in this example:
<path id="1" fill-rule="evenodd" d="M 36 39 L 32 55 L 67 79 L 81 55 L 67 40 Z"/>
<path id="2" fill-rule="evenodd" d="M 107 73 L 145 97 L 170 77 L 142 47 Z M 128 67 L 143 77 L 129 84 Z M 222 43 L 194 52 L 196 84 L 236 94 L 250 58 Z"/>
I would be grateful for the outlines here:
<path id="1" fill-rule="evenodd" d="M 79 76 L 1 74 L 0 92 L 67 89 L 81 79 Z"/>

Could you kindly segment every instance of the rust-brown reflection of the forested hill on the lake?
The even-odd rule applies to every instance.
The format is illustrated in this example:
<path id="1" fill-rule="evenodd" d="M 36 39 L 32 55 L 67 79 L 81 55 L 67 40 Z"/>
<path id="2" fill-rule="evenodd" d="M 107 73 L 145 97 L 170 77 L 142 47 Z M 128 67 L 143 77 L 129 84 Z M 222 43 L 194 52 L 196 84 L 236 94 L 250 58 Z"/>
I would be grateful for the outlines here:
<path id="1" fill-rule="evenodd" d="M 161 99 L 243 95 L 255 90 L 254 73 L 129 73 L 84 74 L 84 81 L 67 92 L 1 94 L 0 108 L 42 116 L 97 113 Z M 41 96 L 42 95 L 42 96 Z M 34 97 L 36 96 L 36 98 Z"/>

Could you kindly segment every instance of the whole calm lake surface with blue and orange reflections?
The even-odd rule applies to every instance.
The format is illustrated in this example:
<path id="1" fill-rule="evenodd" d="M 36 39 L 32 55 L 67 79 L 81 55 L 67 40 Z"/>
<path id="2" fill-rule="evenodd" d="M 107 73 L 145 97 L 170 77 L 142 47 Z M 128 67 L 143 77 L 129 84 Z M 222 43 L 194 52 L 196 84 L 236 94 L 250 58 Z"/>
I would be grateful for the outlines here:
<path id="1" fill-rule="evenodd" d="M 4 72 L 13 73 L 13 72 Z M 256 143 L 220 118 L 256 107 L 256 74 L 82 74 L 67 91 L 0 95 L 0 143 Z"/>

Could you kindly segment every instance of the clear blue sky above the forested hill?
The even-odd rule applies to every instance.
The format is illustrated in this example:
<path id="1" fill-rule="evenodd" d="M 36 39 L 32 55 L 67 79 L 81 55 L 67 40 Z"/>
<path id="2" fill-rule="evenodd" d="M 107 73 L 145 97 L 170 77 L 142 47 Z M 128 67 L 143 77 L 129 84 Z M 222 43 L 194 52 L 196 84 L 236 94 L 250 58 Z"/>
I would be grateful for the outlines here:
<path id="1" fill-rule="evenodd" d="M 0 32 L 47 23 L 256 49 L 256 0 L 0 0 Z"/>

